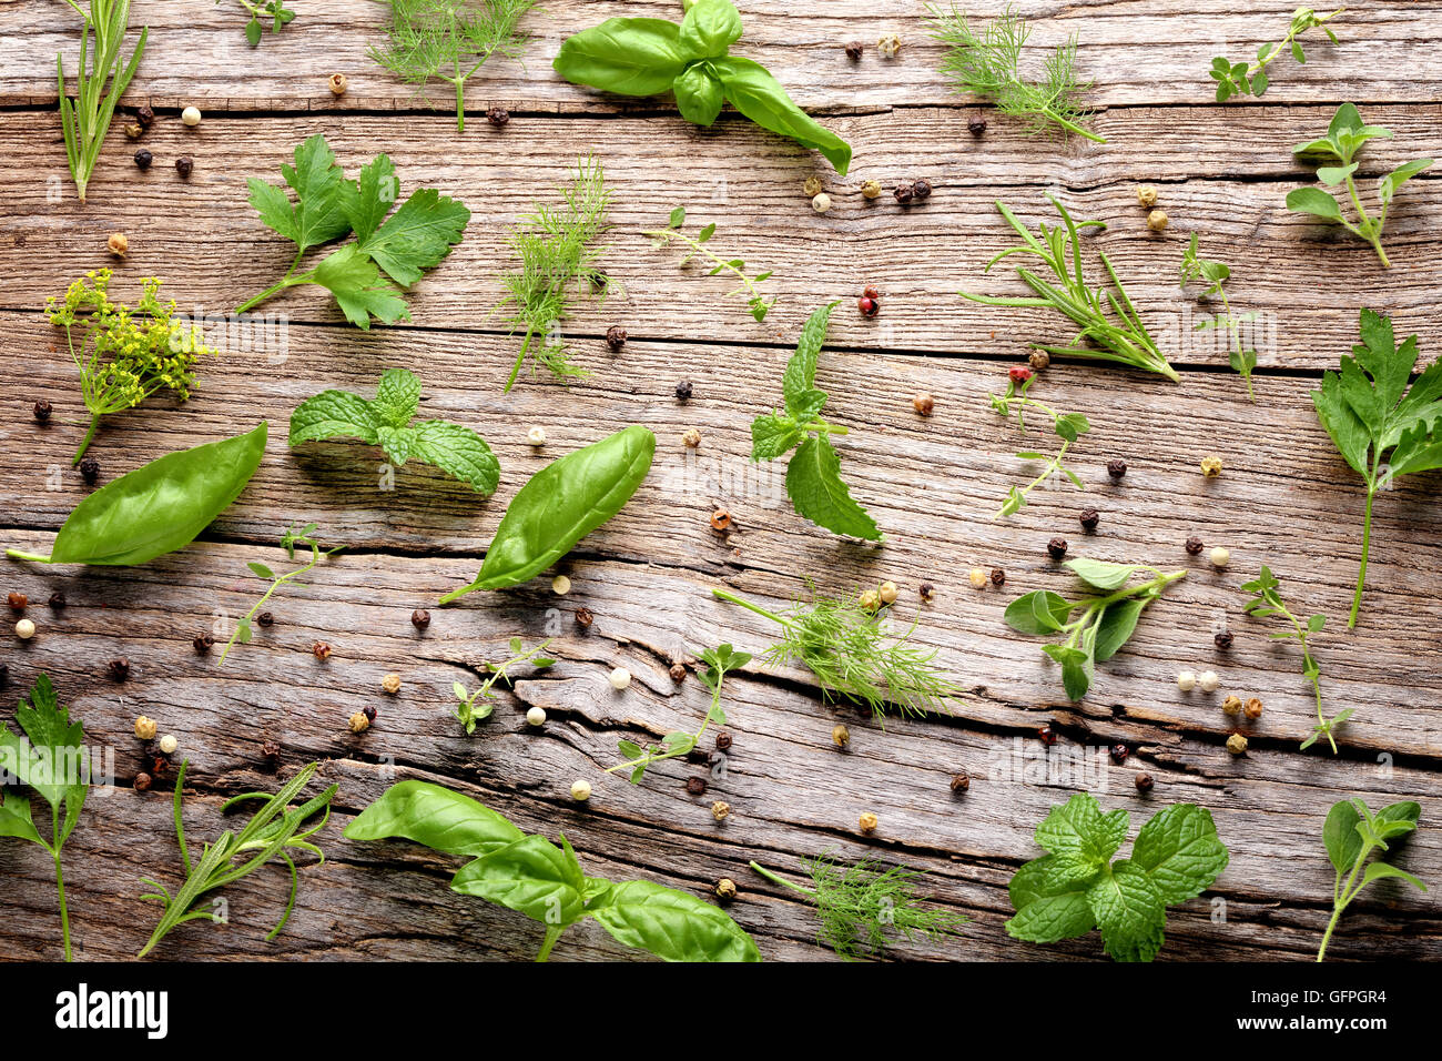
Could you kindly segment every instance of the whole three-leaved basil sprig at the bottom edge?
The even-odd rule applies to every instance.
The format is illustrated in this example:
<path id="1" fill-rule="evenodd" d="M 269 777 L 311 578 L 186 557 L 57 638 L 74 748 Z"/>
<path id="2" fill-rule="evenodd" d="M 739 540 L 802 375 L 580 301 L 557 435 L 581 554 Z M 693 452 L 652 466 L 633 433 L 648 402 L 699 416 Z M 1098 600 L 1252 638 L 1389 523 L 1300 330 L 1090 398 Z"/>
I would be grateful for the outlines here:
<path id="1" fill-rule="evenodd" d="M 472 857 L 451 878 L 451 891 L 544 924 L 536 961 L 545 961 L 561 934 L 585 918 L 619 943 L 666 961 L 761 960 L 746 930 L 709 902 L 650 881 L 587 876 L 564 834 L 557 847 L 448 788 L 401 781 L 346 826 L 348 840 L 392 836 Z"/>

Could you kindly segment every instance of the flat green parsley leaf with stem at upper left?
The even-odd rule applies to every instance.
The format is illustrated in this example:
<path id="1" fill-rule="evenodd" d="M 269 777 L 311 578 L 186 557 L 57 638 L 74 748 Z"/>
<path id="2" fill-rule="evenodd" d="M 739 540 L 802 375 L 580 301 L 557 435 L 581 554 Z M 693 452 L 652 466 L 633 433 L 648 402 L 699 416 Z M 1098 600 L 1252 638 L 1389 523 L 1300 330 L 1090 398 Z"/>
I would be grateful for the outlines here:
<path id="1" fill-rule="evenodd" d="M 369 328 L 371 318 L 392 325 L 410 320 L 405 299 L 381 273 L 410 287 L 460 243 L 470 211 L 434 188 L 421 188 L 401 204 L 395 165 L 385 154 L 348 180 L 326 137 L 316 134 L 296 149 L 296 165 L 281 166 L 296 193 L 251 178 L 251 205 L 270 228 L 296 244 L 296 258 L 280 283 L 236 309 L 244 313 L 277 292 L 319 284 L 336 297 L 346 319 Z M 386 217 L 389 215 L 389 217 Z M 310 271 L 298 271 L 306 251 L 355 232 L 356 243 L 332 251 Z"/>

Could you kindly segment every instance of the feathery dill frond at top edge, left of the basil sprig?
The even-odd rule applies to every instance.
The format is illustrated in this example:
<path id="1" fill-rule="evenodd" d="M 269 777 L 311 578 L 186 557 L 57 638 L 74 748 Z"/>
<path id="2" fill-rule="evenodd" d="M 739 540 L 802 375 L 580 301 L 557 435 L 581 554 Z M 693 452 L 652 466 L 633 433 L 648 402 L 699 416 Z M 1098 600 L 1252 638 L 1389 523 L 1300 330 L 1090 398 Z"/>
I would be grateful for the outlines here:
<path id="1" fill-rule="evenodd" d="M 389 42 L 371 46 L 375 62 L 402 81 L 424 85 L 431 78 L 456 88 L 456 131 L 466 131 L 466 78 L 499 52 L 519 58 L 526 38 L 516 32 L 536 0 L 388 0 Z M 244 3 L 244 0 L 242 0 Z"/>

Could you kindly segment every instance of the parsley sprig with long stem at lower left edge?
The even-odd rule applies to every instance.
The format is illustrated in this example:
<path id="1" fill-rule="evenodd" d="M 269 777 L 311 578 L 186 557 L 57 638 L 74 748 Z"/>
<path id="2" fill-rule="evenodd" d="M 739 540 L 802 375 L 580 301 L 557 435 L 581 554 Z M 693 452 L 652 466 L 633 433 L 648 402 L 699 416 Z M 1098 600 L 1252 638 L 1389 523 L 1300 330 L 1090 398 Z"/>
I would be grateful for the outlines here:
<path id="1" fill-rule="evenodd" d="M 13 775 L 50 804 L 50 840 L 42 839 L 30 811 L 30 800 L 13 790 L 0 790 L 0 836 L 13 836 L 40 844 L 55 862 L 55 888 L 61 904 L 61 933 L 65 960 L 71 960 L 71 920 L 65 908 L 65 876 L 61 847 L 79 821 L 81 807 L 89 791 L 89 759 L 85 732 L 71 722 L 69 709 L 61 707 L 46 674 L 35 680 L 29 702 L 22 700 L 14 720 L 25 736 L 12 733 L 0 722 L 0 769 Z"/>

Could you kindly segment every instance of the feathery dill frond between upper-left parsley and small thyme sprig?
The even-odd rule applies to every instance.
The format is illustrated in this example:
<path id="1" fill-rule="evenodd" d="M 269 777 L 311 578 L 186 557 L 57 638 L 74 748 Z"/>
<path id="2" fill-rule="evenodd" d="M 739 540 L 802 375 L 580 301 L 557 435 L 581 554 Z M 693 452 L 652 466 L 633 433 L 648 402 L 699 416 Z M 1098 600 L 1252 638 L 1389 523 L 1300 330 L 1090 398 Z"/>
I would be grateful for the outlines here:
<path id="1" fill-rule="evenodd" d="M 609 280 L 597 268 L 604 248 L 591 244 L 610 228 L 606 211 L 611 193 L 594 154 L 581 159 L 575 178 L 558 191 L 561 206 L 536 204 L 536 212 L 521 218 L 510 230 L 509 245 L 521 258 L 521 268 L 502 277 L 508 294 L 496 309 L 512 309 L 510 331 L 525 328 L 525 341 L 506 380 L 506 391 L 516 383 L 528 354 L 535 359 L 534 368 L 548 368 L 558 378 L 590 375 L 571 364 L 559 329 L 580 289 L 600 290 L 606 297 Z"/>

